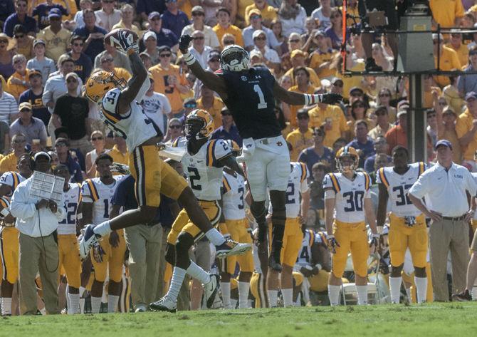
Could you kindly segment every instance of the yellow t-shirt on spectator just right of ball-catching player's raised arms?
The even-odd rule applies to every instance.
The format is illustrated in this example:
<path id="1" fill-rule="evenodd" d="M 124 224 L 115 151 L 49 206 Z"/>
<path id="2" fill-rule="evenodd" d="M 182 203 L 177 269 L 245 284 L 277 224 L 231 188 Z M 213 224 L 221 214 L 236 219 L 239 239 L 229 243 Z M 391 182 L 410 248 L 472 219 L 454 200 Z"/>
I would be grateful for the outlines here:
<path id="1" fill-rule="evenodd" d="M 149 68 L 154 78 L 154 91 L 167 96 L 171 104 L 172 113 L 178 113 L 182 109 L 182 99 L 179 90 L 173 86 L 167 85 L 169 76 L 176 76 L 178 83 L 187 85 L 187 79 L 184 74 L 179 71 L 179 66 L 169 65 L 168 69 L 164 69 L 161 63 Z M 167 86 L 166 86 L 167 85 Z"/>

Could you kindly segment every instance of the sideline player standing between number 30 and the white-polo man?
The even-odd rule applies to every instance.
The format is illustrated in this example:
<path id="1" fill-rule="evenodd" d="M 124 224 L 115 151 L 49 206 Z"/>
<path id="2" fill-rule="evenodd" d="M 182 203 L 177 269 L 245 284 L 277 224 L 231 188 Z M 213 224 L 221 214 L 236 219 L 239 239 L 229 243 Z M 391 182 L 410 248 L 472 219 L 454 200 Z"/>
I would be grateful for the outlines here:
<path id="1" fill-rule="evenodd" d="M 426 219 L 407 196 L 409 189 L 426 170 L 424 162 L 409 164 L 406 147 L 398 145 L 392 150 L 394 166 L 382 167 L 377 171 L 379 202 L 377 225 L 384 226 L 387 216 L 387 203 L 391 199 L 389 214 L 389 254 L 391 255 L 391 274 L 389 290 L 392 303 L 399 303 L 402 284 L 402 267 L 406 250 L 412 255 L 414 282 L 417 302 L 426 301 L 427 228 Z"/>

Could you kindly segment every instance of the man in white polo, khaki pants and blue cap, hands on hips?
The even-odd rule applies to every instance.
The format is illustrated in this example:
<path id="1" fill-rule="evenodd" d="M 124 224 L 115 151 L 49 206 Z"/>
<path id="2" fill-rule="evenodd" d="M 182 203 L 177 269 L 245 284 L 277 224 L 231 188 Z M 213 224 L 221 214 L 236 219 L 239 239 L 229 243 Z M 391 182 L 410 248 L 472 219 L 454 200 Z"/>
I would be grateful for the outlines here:
<path id="1" fill-rule="evenodd" d="M 449 249 L 454 293 L 466 288 L 468 222 L 473 216 L 467 193 L 477 194 L 477 184 L 466 167 L 452 162 L 449 140 L 436 142 L 437 163 L 426 170 L 409 190 L 409 199 L 426 217 L 429 229 L 432 286 L 435 301 L 449 301 L 446 264 Z M 422 198 L 426 203 L 422 202 Z"/>

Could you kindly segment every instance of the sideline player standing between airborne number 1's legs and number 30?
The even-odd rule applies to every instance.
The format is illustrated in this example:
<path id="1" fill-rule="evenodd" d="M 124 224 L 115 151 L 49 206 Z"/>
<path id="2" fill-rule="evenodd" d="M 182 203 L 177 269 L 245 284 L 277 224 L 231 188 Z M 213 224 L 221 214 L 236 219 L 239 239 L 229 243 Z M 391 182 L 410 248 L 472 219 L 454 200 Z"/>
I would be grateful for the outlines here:
<path id="1" fill-rule="evenodd" d="M 310 172 L 303 162 L 290 162 L 290 175 L 286 189 L 286 222 L 283 233 L 283 248 L 280 261 L 281 273 L 269 268 L 267 273 L 268 302 L 273 308 L 278 305 L 278 289 L 281 289 L 283 306 L 293 306 L 293 266 L 303 240 L 302 219 L 308 218 L 310 192 L 307 179 Z M 273 207 L 270 205 L 270 214 Z M 278 280 L 280 279 L 280 281 Z"/>

